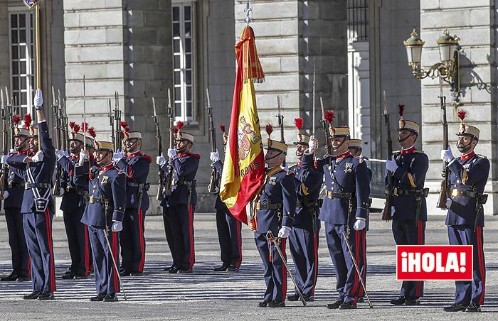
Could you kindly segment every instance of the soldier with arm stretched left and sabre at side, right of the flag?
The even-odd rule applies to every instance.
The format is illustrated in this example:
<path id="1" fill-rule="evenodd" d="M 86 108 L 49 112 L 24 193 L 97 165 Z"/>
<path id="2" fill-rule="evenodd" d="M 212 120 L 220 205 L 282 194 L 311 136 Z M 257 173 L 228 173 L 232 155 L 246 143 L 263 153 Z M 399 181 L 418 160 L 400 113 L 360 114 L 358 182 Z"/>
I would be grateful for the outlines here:
<path id="1" fill-rule="evenodd" d="M 370 174 L 362 158 L 349 152 L 349 128 L 331 128 L 332 148 L 336 156 L 317 160 L 317 169 L 325 175 L 327 196 L 320 210 L 319 219 L 325 222 L 325 235 L 329 253 L 336 271 L 338 298 L 327 305 L 329 309 L 356 309 L 364 295 L 354 256 L 361 277 L 365 277 L 366 220 L 369 217 Z M 317 148 L 312 139 L 309 151 Z M 307 153 L 309 153 L 309 151 Z M 351 229 L 354 231 L 351 233 Z M 343 232 L 348 237 L 353 253 L 346 246 Z M 351 237 L 352 236 L 352 237 Z"/>

